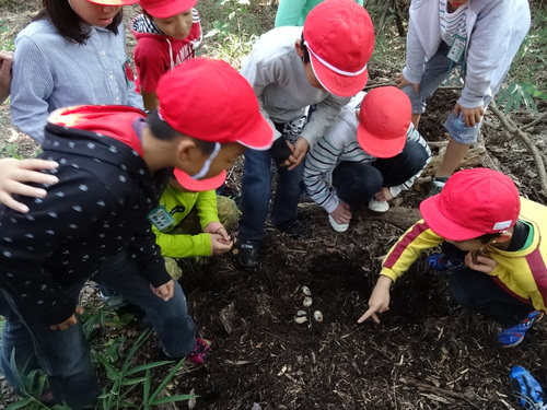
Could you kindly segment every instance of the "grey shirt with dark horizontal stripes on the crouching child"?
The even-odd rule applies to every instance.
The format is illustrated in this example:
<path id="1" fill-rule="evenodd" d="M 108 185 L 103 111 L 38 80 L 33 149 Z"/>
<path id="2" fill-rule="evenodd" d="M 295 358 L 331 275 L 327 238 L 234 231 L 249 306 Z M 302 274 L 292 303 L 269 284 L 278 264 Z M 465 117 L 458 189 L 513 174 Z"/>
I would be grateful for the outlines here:
<path id="1" fill-rule="evenodd" d="M 323 207 L 328 213 L 331 213 L 340 203 L 340 200 L 336 197 L 330 186 L 333 171 L 336 166 L 345 161 L 372 163 L 376 160 L 375 156 L 365 152 L 357 142 L 357 127 L 359 122 L 356 117 L 356 109 L 359 107 L 363 96 L 364 93 L 359 93 L 342 108 L 338 117 L 339 119 L 324 137 L 317 140 L 305 160 L 304 185 L 307 194 L 315 203 Z M 428 161 L 423 165 L 426 167 L 431 159 L 431 150 L 428 143 L 411 124 L 407 136 L 408 141 L 416 141 L 426 149 L 429 155 Z M 395 197 L 401 190 L 410 188 L 422 171 L 420 169 L 418 174 L 404 184 L 389 187 L 391 194 Z"/>

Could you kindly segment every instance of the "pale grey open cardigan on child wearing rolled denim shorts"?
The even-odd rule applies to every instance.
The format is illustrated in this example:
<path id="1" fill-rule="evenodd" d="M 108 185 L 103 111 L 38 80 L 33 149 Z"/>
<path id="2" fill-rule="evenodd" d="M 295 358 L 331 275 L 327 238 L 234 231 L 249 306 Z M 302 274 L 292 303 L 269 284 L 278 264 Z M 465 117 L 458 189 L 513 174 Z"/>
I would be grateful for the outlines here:
<path id="1" fill-rule="evenodd" d="M 405 79 L 419 83 L 424 63 L 441 44 L 439 0 L 412 0 L 407 35 Z M 509 71 L 531 23 L 527 0 L 469 0 L 465 85 L 458 103 L 465 108 L 493 96 Z"/>

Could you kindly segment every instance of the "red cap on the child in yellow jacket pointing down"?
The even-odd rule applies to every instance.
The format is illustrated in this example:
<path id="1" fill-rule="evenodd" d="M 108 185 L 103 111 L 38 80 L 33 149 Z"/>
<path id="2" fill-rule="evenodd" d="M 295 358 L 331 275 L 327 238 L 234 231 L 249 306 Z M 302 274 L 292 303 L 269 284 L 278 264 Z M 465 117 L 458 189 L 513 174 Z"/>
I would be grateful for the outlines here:
<path id="1" fill-rule="evenodd" d="M 488 168 L 464 169 L 450 177 L 441 194 L 423 200 L 420 212 L 438 235 L 468 241 L 513 226 L 521 199 L 507 175 Z"/>

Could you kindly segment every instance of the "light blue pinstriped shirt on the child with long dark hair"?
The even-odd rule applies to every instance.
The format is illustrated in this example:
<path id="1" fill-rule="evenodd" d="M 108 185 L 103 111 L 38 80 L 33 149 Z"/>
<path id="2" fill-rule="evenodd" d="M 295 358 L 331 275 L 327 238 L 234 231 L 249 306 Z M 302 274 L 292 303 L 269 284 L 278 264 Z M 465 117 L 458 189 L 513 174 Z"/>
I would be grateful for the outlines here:
<path id="1" fill-rule="evenodd" d="M 28 24 L 15 38 L 11 84 L 12 122 L 44 141 L 49 113 L 82 104 L 131 105 L 142 98 L 128 79 L 124 26 L 119 34 L 90 27 L 85 44 L 59 35 L 49 20 Z"/>

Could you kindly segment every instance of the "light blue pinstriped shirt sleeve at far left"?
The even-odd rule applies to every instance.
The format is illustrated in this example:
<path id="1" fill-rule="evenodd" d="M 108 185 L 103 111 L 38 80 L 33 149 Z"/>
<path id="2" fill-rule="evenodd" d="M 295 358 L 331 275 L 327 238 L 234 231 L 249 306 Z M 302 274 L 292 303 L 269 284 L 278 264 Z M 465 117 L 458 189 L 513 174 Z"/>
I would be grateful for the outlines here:
<path id="1" fill-rule="evenodd" d="M 44 141 L 47 99 L 54 91 L 53 72 L 48 57 L 36 43 L 25 36 L 15 39 L 11 117 L 14 126 L 38 143 Z"/>

